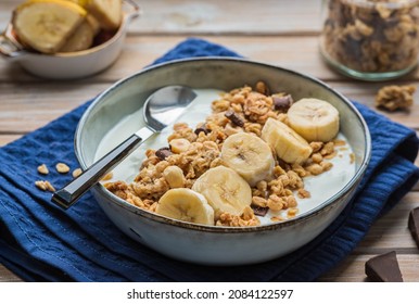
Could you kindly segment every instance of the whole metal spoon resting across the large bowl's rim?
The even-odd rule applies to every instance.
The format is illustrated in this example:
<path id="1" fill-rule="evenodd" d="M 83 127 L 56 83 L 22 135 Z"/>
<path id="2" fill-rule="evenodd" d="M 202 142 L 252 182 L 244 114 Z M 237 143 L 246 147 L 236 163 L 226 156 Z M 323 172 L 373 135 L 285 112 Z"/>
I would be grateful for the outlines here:
<path id="1" fill-rule="evenodd" d="M 63 189 L 55 191 L 51 199 L 52 202 L 65 210 L 72 206 L 87 190 L 142 142 L 174 123 L 195 97 L 196 93 L 191 88 L 182 86 L 169 86 L 155 91 L 147 99 L 143 106 L 147 126 L 132 134 Z"/>

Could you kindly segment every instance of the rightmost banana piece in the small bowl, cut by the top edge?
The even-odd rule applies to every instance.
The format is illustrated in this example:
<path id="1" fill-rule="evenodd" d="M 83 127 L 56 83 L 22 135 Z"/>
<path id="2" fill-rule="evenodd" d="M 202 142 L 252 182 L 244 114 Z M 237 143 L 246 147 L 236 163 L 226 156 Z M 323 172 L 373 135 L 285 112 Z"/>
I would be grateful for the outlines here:
<path id="1" fill-rule="evenodd" d="M 104 29 L 117 29 L 123 20 L 122 0 L 89 0 L 87 10 Z"/>

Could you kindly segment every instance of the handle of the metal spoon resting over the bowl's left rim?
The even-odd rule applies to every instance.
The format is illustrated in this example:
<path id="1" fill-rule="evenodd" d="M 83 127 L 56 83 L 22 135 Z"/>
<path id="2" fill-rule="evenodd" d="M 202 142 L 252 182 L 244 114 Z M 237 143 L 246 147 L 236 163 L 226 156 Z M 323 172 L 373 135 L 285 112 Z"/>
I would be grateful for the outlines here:
<path id="1" fill-rule="evenodd" d="M 113 169 L 118 163 L 126 159 L 141 142 L 149 139 L 154 131 L 143 127 L 136 134 L 118 144 L 98 162 L 92 164 L 80 176 L 73 179 L 63 189 L 55 191 L 51 201 L 59 206 L 67 210 L 71 207 L 87 190 L 96 185 L 106 173 Z"/>

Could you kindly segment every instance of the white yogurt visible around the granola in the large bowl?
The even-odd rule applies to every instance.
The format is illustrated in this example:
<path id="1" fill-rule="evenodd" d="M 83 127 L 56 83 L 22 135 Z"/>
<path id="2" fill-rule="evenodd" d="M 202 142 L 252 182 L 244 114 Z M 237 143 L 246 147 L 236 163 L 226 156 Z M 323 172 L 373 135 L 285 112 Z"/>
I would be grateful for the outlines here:
<path id="1" fill-rule="evenodd" d="M 178 122 L 185 122 L 192 128 L 205 121 L 206 116 L 212 112 L 212 101 L 218 99 L 221 93 L 221 91 L 214 89 L 195 89 L 195 92 L 198 94 L 196 99 L 190 105 L 188 111 L 178 119 Z M 103 137 L 96 153 L 96 161 L 144 125 L 142 109 L 119 122 Z M 145 141 L 138 151 L 134 152 L 113 169 L 112 181 L 124 180 L 126 182 L 131 182 L 139 173 L 142 161 L 145 159 L 145 150 L 156 150 L 162 147 L 168 147 L 167 137 L 172 132 L 173 125 Z M 342 134 L 339 134 L 338 138 L 347 142 Z M 338 147 L 337 151 L 338 155 L 332 160 L 329 160 L 333 164 L 333 167 L 329 172 L 319 176 L 310 176 L 303 179 L 305 185 L 304 188 L 310 192 L 310 198 L 300 199 L 295 195 L 299 203 L 297 216 L 317 207 L 319 204 L 333 197 L 355 175 L 355 163 L 351 162 L 351 154 L 353 153 L 351 147 L 348 144 Z M 287 218 L 287 212 L 269 212 L 265 217 L 259 217 L 261 224 L 270 224 L 270 217 L 274 215 L 281 215 Z"/>

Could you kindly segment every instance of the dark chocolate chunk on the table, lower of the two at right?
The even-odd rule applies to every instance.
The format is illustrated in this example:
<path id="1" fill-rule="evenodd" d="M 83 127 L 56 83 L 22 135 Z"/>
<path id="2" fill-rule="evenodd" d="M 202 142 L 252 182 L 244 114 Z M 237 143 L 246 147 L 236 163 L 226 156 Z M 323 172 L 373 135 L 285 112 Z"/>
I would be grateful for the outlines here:
<path id="1" fill-rule="evenodd" d="M 403 282 L 395 251 L 368 259 L 365 263 L 365 274 L 372 282 Z"/>

